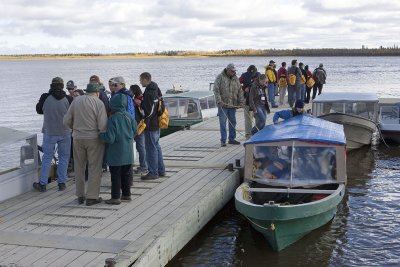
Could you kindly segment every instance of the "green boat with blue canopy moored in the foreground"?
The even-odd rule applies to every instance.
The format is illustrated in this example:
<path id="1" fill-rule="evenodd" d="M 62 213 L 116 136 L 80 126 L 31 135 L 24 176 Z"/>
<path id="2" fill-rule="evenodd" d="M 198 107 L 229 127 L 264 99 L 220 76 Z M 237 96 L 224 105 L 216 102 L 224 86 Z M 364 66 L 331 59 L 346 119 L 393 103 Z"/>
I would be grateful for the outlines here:
<path id="1" fill-rule="evenodd" d="M 236 209 L 275 251 L 328 223 L 345 194 L 343 126 L 308 115 L 269 125 L 246 141 Z"/>

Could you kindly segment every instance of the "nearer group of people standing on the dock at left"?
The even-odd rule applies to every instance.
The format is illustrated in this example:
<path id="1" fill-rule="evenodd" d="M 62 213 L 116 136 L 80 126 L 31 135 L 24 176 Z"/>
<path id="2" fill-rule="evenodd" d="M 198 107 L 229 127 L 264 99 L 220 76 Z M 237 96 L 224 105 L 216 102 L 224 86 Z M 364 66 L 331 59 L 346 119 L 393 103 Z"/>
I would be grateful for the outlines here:
<path id="1" fill-rule="evenodd" d="M 102 202 L 102 169 L 106 170 L 107 165 L 111 174 L 111 198 L 105 201 L 107 204 L 131 200 L 133 171 L 141 174 L 143 180 L 165 176 L 157 113 L 161 90 L 150 73 L 142 73 L 139 79 L 145 88 L 143 94 L 139 85 L 128 90 L 123 77 L 111 78 L 111 98 L 97 75 L 89 78 L 86 93 L 77 89 L 72 80 L 68 81 L 68 95 L 63 90 L 63 79 L 52 79 L 50 90 L 41 95 L 36 105 L 37 113 L 44 115 L 42 167 L 39 181 L 33 184 L 36 190 L 46 191 L 56 145 L 58 190 L 66 189 L 68 163 L 73 162 L 79 204 L 86 202 L 91 206 Z M 146 128 L 138 134 L 137 124 L 141 120 Z M 133 170 L 135 141 L 140 166 Z"/>

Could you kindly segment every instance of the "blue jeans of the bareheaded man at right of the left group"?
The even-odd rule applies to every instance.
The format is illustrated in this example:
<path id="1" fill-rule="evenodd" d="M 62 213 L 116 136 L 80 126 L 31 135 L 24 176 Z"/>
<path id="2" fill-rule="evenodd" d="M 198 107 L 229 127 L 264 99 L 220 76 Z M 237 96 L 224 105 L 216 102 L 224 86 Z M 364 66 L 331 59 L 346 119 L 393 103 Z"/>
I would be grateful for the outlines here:
<path id="1" fill-rule="evenodd" d="M 149 174 L 158 176 L 165 174 L 164 160 L 162 151 L 158 141 L 160 140 L 160 130 L 144 131 L 144 144 L 146 148 L 146 161 L 149 169 Z"/>

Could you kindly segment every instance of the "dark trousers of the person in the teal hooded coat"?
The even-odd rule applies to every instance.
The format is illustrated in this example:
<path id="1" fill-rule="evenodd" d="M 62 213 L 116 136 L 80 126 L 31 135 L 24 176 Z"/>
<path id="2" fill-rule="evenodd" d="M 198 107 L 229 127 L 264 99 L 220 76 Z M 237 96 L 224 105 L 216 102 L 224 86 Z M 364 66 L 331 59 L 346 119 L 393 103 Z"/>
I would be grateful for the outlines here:
<path id="1" fill-rule="evenodd" d="M 131 195 L 131 164 L 124 166 L 110 166 L 111 198 L 120 199 Z"/>

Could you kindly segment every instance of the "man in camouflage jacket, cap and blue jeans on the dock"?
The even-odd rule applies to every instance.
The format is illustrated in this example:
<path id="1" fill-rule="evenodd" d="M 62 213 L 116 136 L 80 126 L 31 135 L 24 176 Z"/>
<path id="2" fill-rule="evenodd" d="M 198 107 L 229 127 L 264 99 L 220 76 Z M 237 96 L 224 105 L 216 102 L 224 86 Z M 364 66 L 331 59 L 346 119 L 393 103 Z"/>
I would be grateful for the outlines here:
<path id="1" fill-rule="evenodd" d="M 239 145 L 236 141 L 236 109 L 244 105 L 243 92 L 236 76 L 233 63 L 217 76 L 214 82 L 215 101 L 218 104 L 218 118 L 221 133 L 221 146 L 226 146 L 226 121 L 229 125 L 229 144 Z"/>

